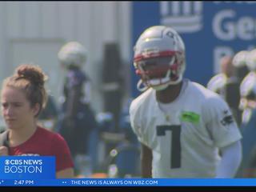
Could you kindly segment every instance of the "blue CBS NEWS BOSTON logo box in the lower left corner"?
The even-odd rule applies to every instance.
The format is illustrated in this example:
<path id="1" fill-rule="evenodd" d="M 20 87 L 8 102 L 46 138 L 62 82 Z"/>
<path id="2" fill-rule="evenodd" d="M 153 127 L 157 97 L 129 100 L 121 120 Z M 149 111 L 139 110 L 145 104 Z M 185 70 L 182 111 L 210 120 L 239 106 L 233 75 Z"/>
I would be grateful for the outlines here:
<path id="1" fill-rule="evenodd" d="M 53 179 L 55 173 L 53 156 L 0 157 L 0 178 L 2 179 Z"/>

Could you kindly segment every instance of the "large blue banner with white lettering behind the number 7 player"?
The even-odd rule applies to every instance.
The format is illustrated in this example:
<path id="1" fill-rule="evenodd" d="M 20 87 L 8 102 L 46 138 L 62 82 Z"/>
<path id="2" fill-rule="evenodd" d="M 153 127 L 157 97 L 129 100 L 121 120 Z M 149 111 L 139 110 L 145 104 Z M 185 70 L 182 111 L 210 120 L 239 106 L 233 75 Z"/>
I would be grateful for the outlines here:
<path id="1" fill-rule="evenodd" d="M 185 77 L 206 86 L 224 55 L 252 50 L 256 40 L 256 2 L 133 2 L 133 46 L 146 28 L 172 26 L 186 45 Z M 138 77 L 132 70 L 132 96 Z"/>

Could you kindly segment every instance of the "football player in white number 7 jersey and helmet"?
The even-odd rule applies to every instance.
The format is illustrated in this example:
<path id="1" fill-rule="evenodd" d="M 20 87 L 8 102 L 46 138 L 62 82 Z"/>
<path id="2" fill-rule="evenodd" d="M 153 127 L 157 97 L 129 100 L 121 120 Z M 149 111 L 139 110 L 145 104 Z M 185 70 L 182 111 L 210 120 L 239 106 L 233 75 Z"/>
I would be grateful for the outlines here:
<path id="1" fill-rule="evenodd" d="M 130 105 L 131 126 L 142 143 L 142 177 L 234 177 L 242 136 L 218 94 L 182 77 L 179 34 L 166 26 L 145 30 L 134 46 L 134 67 L 144 91 Z"/>

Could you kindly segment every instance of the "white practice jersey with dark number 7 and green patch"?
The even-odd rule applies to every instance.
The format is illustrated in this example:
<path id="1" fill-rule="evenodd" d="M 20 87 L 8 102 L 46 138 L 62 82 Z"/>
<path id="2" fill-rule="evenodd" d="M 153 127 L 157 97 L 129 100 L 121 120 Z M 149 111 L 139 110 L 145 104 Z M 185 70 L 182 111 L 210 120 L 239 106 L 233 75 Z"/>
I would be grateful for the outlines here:
<path id="1" fill-rule="evenodd" d="M 153 178 L 214 178 L 218 148 L 242 138 L 226 102 L 185 79 L 178 98 L 163 112 L 150 88 L 130 106 L 138 140 L 153 152 Z"/>

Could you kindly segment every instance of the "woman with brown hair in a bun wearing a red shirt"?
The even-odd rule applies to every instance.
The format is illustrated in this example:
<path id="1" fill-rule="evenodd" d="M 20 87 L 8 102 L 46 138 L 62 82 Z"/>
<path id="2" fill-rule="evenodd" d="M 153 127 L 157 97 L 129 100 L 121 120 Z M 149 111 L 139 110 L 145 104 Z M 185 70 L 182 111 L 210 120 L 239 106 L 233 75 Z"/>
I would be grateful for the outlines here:
<path id="1" fill-rule="evenodd" d="M 55 156 L 56 178 L 73 178 L 74 163 L 64 138 L 38 126 L 38 115 L 47 102 L 46 79 L 39 66 L 23 64 L 2 83 L 2 116 L 7 126 L 7 142 L 0 146 L 0 156 Z"/>

